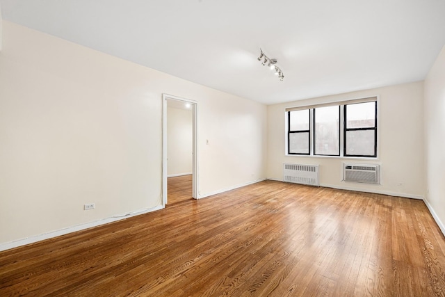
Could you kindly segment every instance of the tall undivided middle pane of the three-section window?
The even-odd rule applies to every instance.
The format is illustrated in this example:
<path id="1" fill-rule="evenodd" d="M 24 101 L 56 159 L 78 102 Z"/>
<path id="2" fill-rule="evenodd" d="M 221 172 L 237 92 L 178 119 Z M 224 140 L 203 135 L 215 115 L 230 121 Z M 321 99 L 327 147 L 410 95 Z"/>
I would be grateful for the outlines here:
<path id="1" fill-rule="evenodd" d="M 340 154 L 339 106 L 315 109 L 315 154 Z"/>

